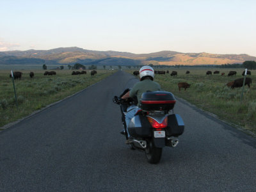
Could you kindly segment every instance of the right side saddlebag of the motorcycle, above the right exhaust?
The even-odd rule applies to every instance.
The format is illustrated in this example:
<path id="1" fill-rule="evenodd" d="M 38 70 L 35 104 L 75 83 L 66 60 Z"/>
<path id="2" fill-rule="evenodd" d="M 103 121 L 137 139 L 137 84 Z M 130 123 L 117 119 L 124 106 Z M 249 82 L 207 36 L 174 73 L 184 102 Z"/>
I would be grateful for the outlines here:
<path id="1" fill-rule="evenodd" d="M 168 115 L 166 136 L 179 136 L 184 132 L 184 122 L 178 114 Z"/>

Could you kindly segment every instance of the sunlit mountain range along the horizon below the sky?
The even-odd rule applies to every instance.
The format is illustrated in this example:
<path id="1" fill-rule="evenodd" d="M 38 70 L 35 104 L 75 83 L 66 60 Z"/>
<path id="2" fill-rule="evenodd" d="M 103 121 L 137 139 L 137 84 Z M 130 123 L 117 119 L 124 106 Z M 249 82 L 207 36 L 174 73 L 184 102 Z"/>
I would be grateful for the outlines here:
<path id="1" fill-rule="evenodd" d="M 1 51 L 0 64 L 69 64 L 83 65 L 222 65 L 256 61 L 248 54 L 210 54 L 160 51 L 134 54 L 118 51 L 92 51 L 79 47 L 60 47 L 50 50 Z"/>

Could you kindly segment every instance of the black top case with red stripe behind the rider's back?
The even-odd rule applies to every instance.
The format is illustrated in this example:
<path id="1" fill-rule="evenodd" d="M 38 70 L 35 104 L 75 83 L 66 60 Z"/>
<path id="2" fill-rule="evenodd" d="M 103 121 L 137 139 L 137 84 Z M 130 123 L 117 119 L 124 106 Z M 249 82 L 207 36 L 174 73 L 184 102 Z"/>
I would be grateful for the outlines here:
<path id="1" fill-rule="evenodd" d="M 140 108 L 145 111 L 169 111 L 176 100 L 170 92 L 145 92 L 140 99 Z"/>

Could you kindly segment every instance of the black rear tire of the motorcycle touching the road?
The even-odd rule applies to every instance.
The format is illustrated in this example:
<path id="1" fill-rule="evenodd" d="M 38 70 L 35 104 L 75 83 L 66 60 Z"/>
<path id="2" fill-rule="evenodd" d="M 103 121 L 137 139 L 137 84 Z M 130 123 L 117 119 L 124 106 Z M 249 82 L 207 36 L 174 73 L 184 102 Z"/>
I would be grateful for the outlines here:
<path id="1" fill-rule="evenodd" d="M 162 148 L 155 147 L 152 140 L 147 141 L 147 148 L 145 148 L 145 154 L 148 163 L 156 164 L 160 161 L 162 156 Z"/>

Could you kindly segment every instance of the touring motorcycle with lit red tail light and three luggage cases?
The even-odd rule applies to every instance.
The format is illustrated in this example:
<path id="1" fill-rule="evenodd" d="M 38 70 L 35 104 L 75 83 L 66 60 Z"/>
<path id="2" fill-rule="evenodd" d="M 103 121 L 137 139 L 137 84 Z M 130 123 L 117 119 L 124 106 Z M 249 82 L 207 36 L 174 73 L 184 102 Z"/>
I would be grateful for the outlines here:
<path id="1" fill-rule="evenodd" d="M 175 97 L 172 93 L 163 91 L 143 93 L 136 115 L 126 125 L 127 109 L 138 104 L 136 98 L 121 99 L 128 91 L 126 89 L 119 97 L 113 98 L 113 102 L 121 109 L 125 137 L 128 139 L 128 130 L 132 138 L 129 142 L 131 149 L 143 150 L 148 163 L 159 163 L 163 147 L 176 147 L 178 137 L 184 132 L 182 118 L 173 113 Z"/>

